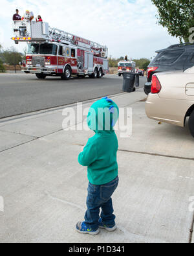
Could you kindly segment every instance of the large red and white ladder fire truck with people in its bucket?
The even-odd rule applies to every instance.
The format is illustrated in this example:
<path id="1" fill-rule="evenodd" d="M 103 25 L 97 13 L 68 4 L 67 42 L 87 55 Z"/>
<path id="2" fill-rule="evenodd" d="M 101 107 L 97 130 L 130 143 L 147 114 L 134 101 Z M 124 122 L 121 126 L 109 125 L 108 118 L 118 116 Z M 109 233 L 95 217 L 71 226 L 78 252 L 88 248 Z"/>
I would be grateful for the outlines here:
<path id="1" fill-rule="evenodd" d="M 15 43 L 27 42 L 25 73 L 62 80 L 72 75 L 102 78 L 109 73 L 106 46 L 51 28 L 47 22 L 14 21 L 13 29 Z"/>

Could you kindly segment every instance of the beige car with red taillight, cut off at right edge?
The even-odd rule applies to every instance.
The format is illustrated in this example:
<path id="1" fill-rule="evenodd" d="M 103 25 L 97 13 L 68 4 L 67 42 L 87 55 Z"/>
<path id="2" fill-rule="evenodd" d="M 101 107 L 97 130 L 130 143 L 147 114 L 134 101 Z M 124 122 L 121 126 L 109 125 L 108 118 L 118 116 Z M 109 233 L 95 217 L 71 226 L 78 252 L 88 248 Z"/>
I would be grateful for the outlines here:
<path id="1" fill-rule="evenodd" d="M 146 114 L 156 121 L 181 127 L 189 117 L 189 129 L 194 137 L 194 66 L 184 72 L 153 75 Z"/>

